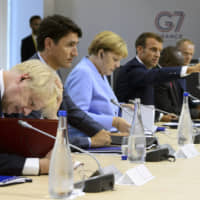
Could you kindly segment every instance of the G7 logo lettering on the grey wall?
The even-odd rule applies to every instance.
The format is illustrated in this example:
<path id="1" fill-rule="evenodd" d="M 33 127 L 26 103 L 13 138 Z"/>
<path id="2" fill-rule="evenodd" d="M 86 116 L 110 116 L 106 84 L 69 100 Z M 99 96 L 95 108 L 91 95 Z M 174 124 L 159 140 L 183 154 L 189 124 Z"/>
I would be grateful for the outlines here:
<path id="1" fill-rule="evenodd" d="M 173 13 L 168 11 L 162 11 L 157 14 L 155 18 L 155 25 L 160 32 L 179 32 L 183 21 L 185 13 L 183 11 L 175 11 Z"/>

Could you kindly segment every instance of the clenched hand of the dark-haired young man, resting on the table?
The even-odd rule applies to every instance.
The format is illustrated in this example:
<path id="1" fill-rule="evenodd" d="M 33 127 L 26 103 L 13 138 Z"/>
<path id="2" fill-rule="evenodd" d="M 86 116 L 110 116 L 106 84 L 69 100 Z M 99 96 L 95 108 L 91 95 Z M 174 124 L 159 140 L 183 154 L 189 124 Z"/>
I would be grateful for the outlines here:
<path id="1" fill-rule="evenodd" d="M 109 131 L 101 130 L 96 135 L 91 137 L 92 147 L 108 146 L 110 144 L 111 144 L 111 138 Z"/>

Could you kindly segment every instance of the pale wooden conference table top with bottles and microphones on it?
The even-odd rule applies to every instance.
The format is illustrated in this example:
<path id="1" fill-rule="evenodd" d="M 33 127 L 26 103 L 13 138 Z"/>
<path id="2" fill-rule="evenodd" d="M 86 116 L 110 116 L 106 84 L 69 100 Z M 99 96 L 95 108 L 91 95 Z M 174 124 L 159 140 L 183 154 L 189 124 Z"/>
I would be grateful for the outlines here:
<path id="1" fill-rule="evenodd" d="M 167 130 L 157 133 L 160 144 L 170 144 L 177 150 L 177 130 Z M 200 145 L 195 145 L 200 150 Z M 120 155 L 95 155 L 102 167 L 114 165 L 121 172 L 137 166 L 129 161 L 121 160 Z M 97 170 L 97 165 L 87 155 L 75 153 L 73 157 L 85 164 L 89 174 Z M 176 162 L 146 162 L 145 166 L 154 176 L 154 179 L 142 186 L 115 185 L 114 190 L 100 193 L 85 193 L 77 197 L 79 200 L 188 200 L 198 199 L 200 193 L 200 156 L 190 159 L 177 159 Z M 76 173 L 76 171 L 75 171 Z M 32 183 L 24 183 L 0 188 L 1 200 L 45 200 L 51 199 L 48 194 L 48 176 L 31 177 Z"/>

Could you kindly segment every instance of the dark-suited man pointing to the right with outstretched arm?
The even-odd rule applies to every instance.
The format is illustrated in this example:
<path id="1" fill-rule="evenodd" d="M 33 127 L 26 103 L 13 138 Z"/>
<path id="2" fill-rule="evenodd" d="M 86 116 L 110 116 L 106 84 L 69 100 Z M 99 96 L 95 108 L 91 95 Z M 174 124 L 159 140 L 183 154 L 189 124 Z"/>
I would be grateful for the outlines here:
<path id="1" fill-rule="evenodd" d="M 154 85 L 180 79 L 188 74 L 199 72 L 200 64 L 192 67 L 155 68 L 163 48 L 162 38 L 151 32 L 142 33 L 136 40 L 136 57 L 118 71 L 116 95 L 119 101 L 140 98 L 145 105 L 154 105 Z M 174 118 L 167 115 L 166 121 Z"/>

